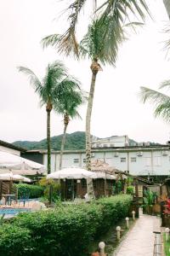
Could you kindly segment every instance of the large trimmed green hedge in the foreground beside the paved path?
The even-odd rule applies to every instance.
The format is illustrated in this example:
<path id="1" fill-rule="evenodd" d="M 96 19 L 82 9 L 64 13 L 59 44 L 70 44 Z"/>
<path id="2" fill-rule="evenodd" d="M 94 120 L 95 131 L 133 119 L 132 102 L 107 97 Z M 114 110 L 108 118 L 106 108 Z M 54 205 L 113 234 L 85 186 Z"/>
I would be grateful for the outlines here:
<path id="1" fill-rule="evenodd" d="M 131 202 L 130 195 L 116 195 L 90 204 L 20 213 L 0 228 L 0 255 L 87 255 L 101 231 L 127 216 Z"/>

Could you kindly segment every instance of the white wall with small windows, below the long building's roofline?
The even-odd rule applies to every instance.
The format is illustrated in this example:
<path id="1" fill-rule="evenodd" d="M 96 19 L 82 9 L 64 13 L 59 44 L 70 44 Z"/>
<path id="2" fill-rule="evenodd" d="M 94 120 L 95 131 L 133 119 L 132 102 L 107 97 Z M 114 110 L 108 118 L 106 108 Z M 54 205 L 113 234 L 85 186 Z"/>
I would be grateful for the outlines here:
<path id="1" fill-rule="evenodd" d="M 138 156 L 138 152 L 142 156 Z M 170 150 L 166 149 L 167 155 L 162 154 L 162 149 L 136 149 L 136 151 L 112 150 L 99 151 L 94 153 L 92 160 L 105 160 L 110 166 L 116 167 L 120 171 L 129 171 L 133 175 L 170 175 Z M 118 152 L 118 156 L 115 153 Z M 84 167 L 85 153 L 63 154 L 63 168 L 70 166 Z M 75 162 L 75 160 L 78 160 Z M 136 160 L 136 161 L 134 161 Z M 47 166 L 47 154 L 44 154 L 44 165 Z M 52 154 L 52 172 L 59 170 L 59 154 Z"/>

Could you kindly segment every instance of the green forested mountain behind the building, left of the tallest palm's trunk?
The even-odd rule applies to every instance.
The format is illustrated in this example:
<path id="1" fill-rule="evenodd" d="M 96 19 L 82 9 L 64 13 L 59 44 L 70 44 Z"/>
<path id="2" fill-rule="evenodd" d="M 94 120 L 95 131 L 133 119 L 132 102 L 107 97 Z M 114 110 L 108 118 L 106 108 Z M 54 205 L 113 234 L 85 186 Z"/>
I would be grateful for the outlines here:
<path id="1" fill-rule="evenodd" d="M 51 148 L 60 150 L 62 134 L 59 136 L 51 137 Z M 47 149 L 47 139 L 40 142 L 17 141 L 13 143 L 15 146 L 26 149 Z M 69 149 L 84 149 L 85 148 L 85 132 L 76 131 L 71 134 L 66 134 L 65 150 Z"/>

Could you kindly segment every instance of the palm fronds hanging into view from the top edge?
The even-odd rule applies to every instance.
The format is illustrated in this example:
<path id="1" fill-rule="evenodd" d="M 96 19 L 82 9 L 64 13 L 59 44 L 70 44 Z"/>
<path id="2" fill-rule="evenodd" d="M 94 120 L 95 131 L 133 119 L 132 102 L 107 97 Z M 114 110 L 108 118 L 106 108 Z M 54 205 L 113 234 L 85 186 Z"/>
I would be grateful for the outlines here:
<path id="1" fill-rule="evenodd" d="M 59 51 L 66 55 L 74 53 L 78 56 L 79 54 L 76 35 L 77 22 L 80 20 L 81 13 L 84 12 L 88 2 L 94 3 L 92 12 L 94 12 L 94 17 L 100 15 L 101 23 L 105 23 L 105 19 L 109 16 L 112 17 L 111 26 L 114 23 L 113 30 L 115 30 L 115 27 L 121 26 L 122 20 L 131 22 L 133 15 L 143 21 L 145 15 L 150 15 L 149 8 L 144 0 L 105 0 L 103 3 L 100 0 L 74 0 L 66 9 L 69 27 L 59 39 Z"/>

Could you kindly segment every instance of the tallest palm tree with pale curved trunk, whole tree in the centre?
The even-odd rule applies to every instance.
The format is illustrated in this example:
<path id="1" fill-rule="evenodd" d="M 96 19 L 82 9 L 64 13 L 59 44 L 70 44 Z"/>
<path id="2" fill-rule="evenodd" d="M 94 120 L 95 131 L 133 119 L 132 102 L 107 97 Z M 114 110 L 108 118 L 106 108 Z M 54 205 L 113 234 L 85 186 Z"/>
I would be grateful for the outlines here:
<path id="1" fill-rule="evenodd" d="M 92 25 L 88 26 L 88 32 L 82 38 L 82 41 L 78 45 L 78 55 L 80 58 L 88 58 L 91 60 L 91 86 L 88 96 L 88 109 L 86 114 L 86 168 L 91 170 L 91 135 L 90 135 L 90 124 L 91 114 L 94 101 L 94 88 L 96 82 L 96 76 L 99 70 L 102 70 L 100 63 L 103 65 L 111 64 L 115 65 L 116 56 L 118 52 L 118 45 L 125 39 L 122 26 L 115 26 L 114 19 L 111 16 L 105 17 L 105 22 L 101 23 L 99 19 L 92 22 Z M 55 34 L 48 38 L 42 39 L 43 46 L 52 44 L 58 46 L 60 44 L 62 36 Z M 60 50 L 60 49 L 58 49 Z M 100 63 L 99 63 L 100 62 Z M 92 187 L 92 180 L 88 180 L 89 195 L 93 195 L 94 192 Z"/>

